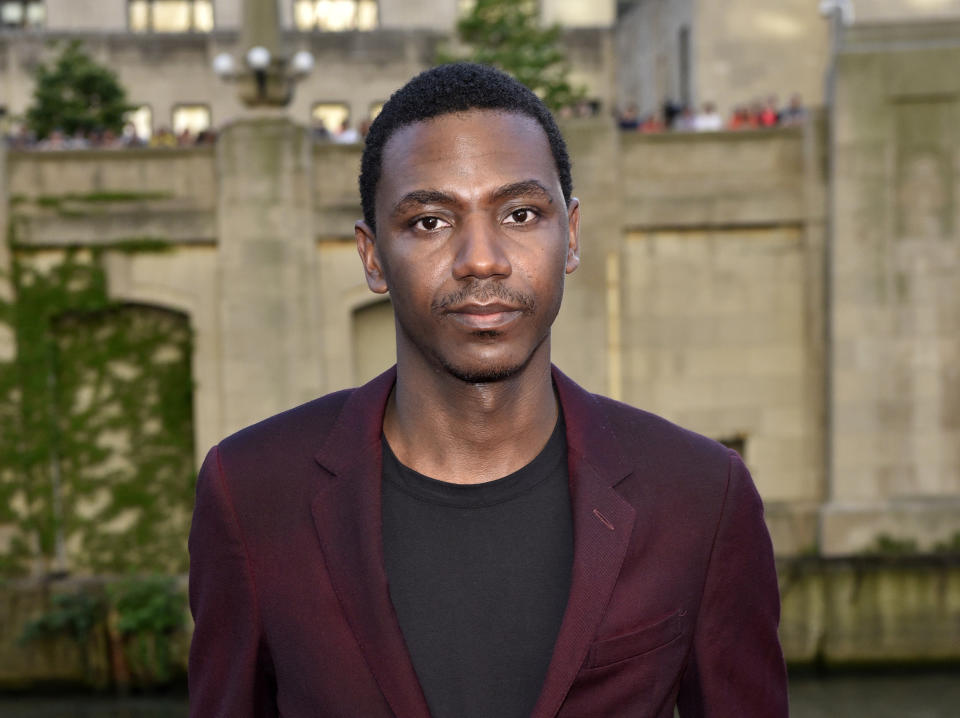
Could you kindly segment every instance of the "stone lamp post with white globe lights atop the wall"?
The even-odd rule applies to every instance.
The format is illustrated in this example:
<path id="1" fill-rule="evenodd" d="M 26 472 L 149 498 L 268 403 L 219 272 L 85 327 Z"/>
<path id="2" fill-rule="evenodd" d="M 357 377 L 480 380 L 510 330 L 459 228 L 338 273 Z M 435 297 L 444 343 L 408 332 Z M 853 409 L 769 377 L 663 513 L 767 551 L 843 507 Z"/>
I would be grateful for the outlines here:
<path id="1" fill-rule="evenodd" d="M 243 1 L 240 46 L 240 63 L 224 52 L 213 58 L 213 71 L 239 85 L 240 99 L 247 107 L 285 107 L 296 82 L 313 70 L 313 55 L 306 50 L 293 57 L 283 52 L 277 0 Z"/>

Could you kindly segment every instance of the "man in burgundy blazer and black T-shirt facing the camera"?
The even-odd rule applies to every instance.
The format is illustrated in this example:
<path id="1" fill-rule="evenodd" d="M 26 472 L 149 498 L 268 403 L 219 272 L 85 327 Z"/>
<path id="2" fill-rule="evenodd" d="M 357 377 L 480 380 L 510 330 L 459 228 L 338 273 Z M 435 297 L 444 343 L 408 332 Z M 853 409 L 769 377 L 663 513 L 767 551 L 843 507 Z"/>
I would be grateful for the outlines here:
<path id="1" fill-rule="evenodd" d="M 550 364 L 580 207 L 543 104 L 489 68 L 423 73 L 360 191 L 397 365 L 208 455 L 191 715 L 785 716 L 739 457 Z"/>

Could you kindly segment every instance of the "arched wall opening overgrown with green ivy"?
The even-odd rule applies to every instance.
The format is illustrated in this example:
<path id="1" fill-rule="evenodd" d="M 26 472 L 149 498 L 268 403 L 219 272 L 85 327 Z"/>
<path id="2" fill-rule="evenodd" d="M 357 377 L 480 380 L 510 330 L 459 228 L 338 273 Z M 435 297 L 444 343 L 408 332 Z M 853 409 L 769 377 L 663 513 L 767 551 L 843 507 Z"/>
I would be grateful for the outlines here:
<path id="1" fill-rule="evenodd" d="M 185 570 L 196 470 L 187 315 L 119 304 L 51 328 L 51 478 L 67 565 Z"/>

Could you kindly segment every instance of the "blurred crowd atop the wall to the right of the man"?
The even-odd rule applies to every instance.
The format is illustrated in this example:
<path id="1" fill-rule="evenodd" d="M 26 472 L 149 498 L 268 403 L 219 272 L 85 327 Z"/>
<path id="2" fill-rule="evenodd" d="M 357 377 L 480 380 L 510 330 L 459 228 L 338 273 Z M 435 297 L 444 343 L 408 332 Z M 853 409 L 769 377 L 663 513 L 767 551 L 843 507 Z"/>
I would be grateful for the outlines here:
<path id="1" fill-rule="evenodd" d="M 637 112 L 636 105 L 628 105 L 618 113 L 621 130 L 635 132 L 719 132 L 721 130 L 750 130 L 763 127 L 785 127 L 801 124 L 807 116 L 803 99 L 798 94 L 790 97 L 785 106 L 780 106 L 776 95 L 766 100 L 754 100 L 734 107 L 726 119 L 712 102 L 704 102 L 700 111 L 689 105 L 667 101 L 657 111 L 644 116 Z"/>

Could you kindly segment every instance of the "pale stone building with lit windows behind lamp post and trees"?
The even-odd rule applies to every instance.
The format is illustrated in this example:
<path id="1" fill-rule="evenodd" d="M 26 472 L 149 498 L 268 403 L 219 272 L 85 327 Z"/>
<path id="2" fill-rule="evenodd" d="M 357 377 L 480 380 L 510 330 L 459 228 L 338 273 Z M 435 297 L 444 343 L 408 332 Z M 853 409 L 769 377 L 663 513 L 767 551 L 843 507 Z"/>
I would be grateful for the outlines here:
<path id="1" fill-rule="evenodd" d="M 450 39 L 463 0 L 277 0 L 290 52 L 308 50 L 313 73 L 290 116 L 356 128 L 390 93 L 431 65 Z M 217 126 L 241 111 L 233 87 L 212 72 L 213 58 L 240 53 L 240 0 L 0 0 L 0 107 L 22 113 L 31 71 L 51 42 L 79 38 L 113 68 L 140 110 L 141 135 Z M 545 22 L 560 23 L 572 79 L 608 107 L 614 97 L 613 0 L 543 0 Z"/>

